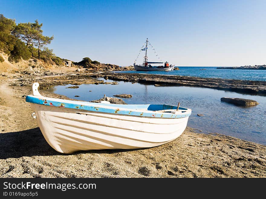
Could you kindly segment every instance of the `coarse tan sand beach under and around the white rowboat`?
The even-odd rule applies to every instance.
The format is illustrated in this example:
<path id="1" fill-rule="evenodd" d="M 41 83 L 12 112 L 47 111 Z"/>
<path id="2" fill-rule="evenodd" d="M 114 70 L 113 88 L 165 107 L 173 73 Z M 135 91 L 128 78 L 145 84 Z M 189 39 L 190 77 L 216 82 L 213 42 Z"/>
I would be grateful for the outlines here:
<path id="1" fill-rule="evenodd" d="M 73 79 L 69 75 L 51 76 L 52 80 L 48 76 L 14 78 L 0 79 L 2 178 L 266 177 L 266 146 L 216 133 L 196 133 L 190 127 L 176 140 L 153 148 L 60 154 L 45 141 L 25 96 L 32 93 L 29 85 L 33 81 L 51 85 Z M 77 81 L 85 83 L 80 78 Z M 27 82 L 26 86 L 19 86 L 21 82 Z M 86 79 L 86 83 L 95 82 Z M 66 99 L 47 91 L 41 94 Z"/>

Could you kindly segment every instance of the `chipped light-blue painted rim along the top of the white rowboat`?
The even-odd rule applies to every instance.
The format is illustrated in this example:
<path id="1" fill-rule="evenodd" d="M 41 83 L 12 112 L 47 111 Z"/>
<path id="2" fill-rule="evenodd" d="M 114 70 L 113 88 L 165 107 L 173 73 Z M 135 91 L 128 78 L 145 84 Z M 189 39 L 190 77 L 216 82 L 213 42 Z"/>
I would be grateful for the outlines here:
<path id="1" fill-rule="evenodd" d="M 121 114 L 121 115 L 130 115 L 138 117 L 158 117 L 158 118 L 183 118 L 190 116 L 191 112 L 185 112 L 188 109 L 179 107 L 180 111 L 184 111 L 183 114 L 172 114 L 172 113 L 160 113 L 160 112 L 142 112 L 141 110 L 136 109 L 148 109 L 148 111 L 158 111 L 166 109 L 177 109 L 177 106 L 165 105 L 165 104 L 100 104 L 92 102 L 83 102 L 83 101 L 73 101 L 73 100 L 64 100 L 64 102 L 48 100 L 43 98 L 43 96 L 27 96 L 26 101 L 34 104 L 41 104 L 46 106 L 55 106 L 59 108 L 72 108 L 77 110 L 86 110 L 94 111 L 101 113 L 110 113 L 110 114 Z M 99 107 L 105 106 L 106 108 Z M 107 108 L 110 107 L 110 108 Z M 119 110 L 119 108 L 127 108 L 131 110 Z M 135 110 L 134 110 L 135 109 Z"/>

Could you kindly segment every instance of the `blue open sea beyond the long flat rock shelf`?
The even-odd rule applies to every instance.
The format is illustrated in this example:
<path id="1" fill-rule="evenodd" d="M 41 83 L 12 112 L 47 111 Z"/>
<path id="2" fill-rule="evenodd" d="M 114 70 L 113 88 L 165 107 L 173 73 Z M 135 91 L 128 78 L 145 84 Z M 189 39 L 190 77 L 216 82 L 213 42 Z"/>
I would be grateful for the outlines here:
<path id="1" fill-rule="evenodd" d="M 193 77 L 214 77 L 222 79 L 242 79 L 266 81 L 266 70 L 216 69 L 217 67 L 180 66 L 174 71 L 118 71 L 119 73 L 148 73 L 154 75 L 182 75 Z M 205 69 L 205 70 L 201 70 Z"/>

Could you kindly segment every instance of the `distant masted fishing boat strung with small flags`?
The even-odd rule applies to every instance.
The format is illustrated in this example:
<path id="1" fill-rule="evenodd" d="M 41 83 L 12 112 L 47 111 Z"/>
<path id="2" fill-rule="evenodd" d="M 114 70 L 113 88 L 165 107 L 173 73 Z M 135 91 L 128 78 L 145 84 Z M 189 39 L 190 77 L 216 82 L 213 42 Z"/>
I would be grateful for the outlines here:
<path id="1" fill-rule="evenodd" d="M 138 59 L 138 56 L 140 55 L 140 52 L 139 52 L 139 54 L 137 56 L 137 59 L 135 59 L 135 62 L 133 64 L 135 70 L 137 70 L 137 71 L 170 71 L 170 70 L 174 70 L 174 67 L 175 66 L 172 66 L 172 65 L 169 66 L 169 63 L 168 62 L 148 62 L 148 56 L 147 56 L 148 43 L 151 46 L 151 48 L 153 48 L 153 46 L 151 45 L 151 43 L 148 41 L 148 38 L 147 38 L 147 40 L 146 40 L 146 46 L 144 47 L 144 45 L 143 45 L 141 47 L 141 50 L 140 50 L 140 52 L 141 51 L 144 51 L 144 50 L 146 51 L 145 52 L 145 56 L 144 56 L 143 63 L 142 63 L 142 65 L 136 64 L 136 61 Z M 153 50 L 154 50 L 154 48 L 153 48 Z M 156 53 L 155 50 L 154 50 L 154 52 Z M 158 56 L 157 53 L 156 53 L 156 56 Z M 158 57 L 158 59 L 160 59 L 160 58 Z M 164 65 L 153 66 L 152 64 L 164 64 Z"/>

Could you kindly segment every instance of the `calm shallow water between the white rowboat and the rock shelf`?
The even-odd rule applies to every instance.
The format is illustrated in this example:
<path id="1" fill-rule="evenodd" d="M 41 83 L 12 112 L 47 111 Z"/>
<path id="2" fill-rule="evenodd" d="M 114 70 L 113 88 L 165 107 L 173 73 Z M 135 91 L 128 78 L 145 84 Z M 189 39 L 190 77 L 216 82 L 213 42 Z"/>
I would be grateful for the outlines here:
<path id="1" fill-rule="evenodd" d="M 219 71 L 224 71 L 224 69 Z M 230 71 L 234 72 L 235 70 Z M 107 81 L 112 82 L 112 80 Z M 55 86 L 51 87 L 50 91 L 84 101 L 102 98 L 104 94 L 112 97 L 115 94 L 126 93 L 133 95 L 132 98 L 124 99 L 127 104 L 177 105 L 180 102 L 181 107 L 192 109 L 188 120 L 189 127 L 203 130 L 203 133 L 221 133 L 266 145 L 265 96 L 245 95 L 211 88 L 155 87 L 154 85 L 132 84 L 131 82 L 118 83 L 118 85 L 83 84 L 79 85 L 77 89 L 66 89 L 71 85 Z M 74 97 L 75 95 L 80 97 Z M 239 107 L 221 102 L 221 97 L 253 99 L 260 104 L 249 108 Z M 204 114 L 204 117 L 199 117 L 197 114 Z"/>

